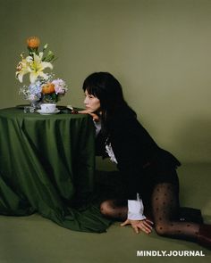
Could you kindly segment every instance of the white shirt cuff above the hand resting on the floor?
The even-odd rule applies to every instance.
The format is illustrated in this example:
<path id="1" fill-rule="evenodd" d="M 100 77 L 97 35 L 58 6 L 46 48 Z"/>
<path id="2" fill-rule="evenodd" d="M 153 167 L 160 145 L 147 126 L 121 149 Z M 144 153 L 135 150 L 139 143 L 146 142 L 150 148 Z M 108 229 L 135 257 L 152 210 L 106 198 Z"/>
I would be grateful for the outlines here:
<path id="1" fill-rule="evenodd" d="M 128 219 L 131 220 L 143 220 L 146 217 L 143 215 L 144 205 L 141 199 L 139 199 L 139 193 L 137 193 L 137 200 L 128 200 Z"/>

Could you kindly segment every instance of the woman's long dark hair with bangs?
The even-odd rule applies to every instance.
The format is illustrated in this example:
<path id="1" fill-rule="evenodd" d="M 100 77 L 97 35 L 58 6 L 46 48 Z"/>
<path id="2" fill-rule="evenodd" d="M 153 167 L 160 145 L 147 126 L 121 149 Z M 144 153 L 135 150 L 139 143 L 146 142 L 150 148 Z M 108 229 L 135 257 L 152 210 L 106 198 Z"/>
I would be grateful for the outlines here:
<path id="1" fill-rule="evenodd" d="M 125 102 L 122 94 L 122 86 L 114 76 L 108 72 L 95 72 L 84 80 L 83 91 L 94 95 L 100 101 L 102 131 L 109 133 L 114 119 L 123 113 L 136 116 L 131 107 Z"/>

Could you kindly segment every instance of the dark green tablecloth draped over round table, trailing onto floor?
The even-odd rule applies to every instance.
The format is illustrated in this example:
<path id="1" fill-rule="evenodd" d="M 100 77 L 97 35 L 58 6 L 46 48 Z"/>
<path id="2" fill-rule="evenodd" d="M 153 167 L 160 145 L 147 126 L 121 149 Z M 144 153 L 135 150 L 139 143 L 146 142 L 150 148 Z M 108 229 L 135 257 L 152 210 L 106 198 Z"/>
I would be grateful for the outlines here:
<path id="1" fill-rule="evenodd" d="M 104 232 L 110 221 L 89 200 L 95 168 L 94 127 L 84 114 L 0 110 L 0 213 L 38 212 L 63 227 Z"/>

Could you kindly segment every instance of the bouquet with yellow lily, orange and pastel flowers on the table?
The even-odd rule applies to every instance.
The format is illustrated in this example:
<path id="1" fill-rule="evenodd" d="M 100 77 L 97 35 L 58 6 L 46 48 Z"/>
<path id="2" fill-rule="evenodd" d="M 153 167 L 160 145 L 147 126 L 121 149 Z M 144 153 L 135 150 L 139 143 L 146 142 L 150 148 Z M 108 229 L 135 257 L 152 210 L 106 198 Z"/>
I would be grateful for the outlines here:
<path id="1" fill-rule="evenodd" d="M 24 99 L 36 107 L 38 103 L 57 103 L 68 90 L 66 83 L 61 78 L 55 78 L 53 73 L 44 73 L 47 68 L 53 70 L 55 54 L 46 52 L 47 44 L 42 52 L 38 52 L 40 41 L 38 37 L 27 39 L 29 55 L 21 53 L 21 62 L 18 63 L 16 78 L 22 83 L 23 76 L 30 74 L 30 84 L 21 86 L 20 94 Z"/>

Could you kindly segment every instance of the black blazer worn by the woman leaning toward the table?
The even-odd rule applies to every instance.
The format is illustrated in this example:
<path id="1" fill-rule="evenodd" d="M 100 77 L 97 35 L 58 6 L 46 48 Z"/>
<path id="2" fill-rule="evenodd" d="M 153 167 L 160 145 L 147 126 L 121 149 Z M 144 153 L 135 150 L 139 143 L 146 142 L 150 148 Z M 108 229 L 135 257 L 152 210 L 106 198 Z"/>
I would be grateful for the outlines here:
<path id="1" fill-rule="evenodd" d="M 168 181 L 169 170 L 180 166 L 170 152 L 161 149 L 148 131 L 139 123 L 138 119 L 130 111 L 121 112 L 114 116 L 114 121 L 109 129 L 108 142 L 111 143 L 117 168 L 122 174 L 123 185 L 127 199 L 136 199 L 137 193 L 146 191 L 146 182 L 153 180 L 159 182 Z M 105 139 L 97 136 L 97 154 L 105 155 Z M 148 167 L 151 175 L 146 173 Z M 152 183 L 153 183 L 152 182 Z M 150 183 L 150 182 L 149 182 Z"/>

